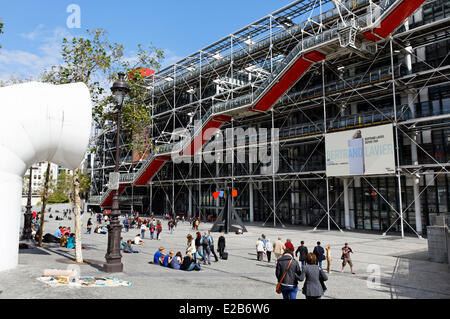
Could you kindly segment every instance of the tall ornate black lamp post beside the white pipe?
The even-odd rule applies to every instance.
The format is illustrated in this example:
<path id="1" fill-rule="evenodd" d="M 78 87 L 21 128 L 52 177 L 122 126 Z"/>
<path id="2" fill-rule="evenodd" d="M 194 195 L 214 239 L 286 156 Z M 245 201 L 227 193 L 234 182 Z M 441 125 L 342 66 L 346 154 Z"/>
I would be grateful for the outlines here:
<path id="1" fill-rule="evenodd" d="M 114 173 L 119 175 L 119 157 L 120 157 L 120 115 L 122 110 L 123 101 L 125 96 L 130 91 L 127 82 L 125 81 L 125 74 L 120 72 L 119 78 L 114 82 L 111 87 L 113 96 L 117 102 L 117 136 L 116 136 L 116 166 Z M 103 270 L 108 273 L 122 272 L 122 254 L 120 253 L 120 233 L 122 231 L 122 225 L 119 222 L 119 190 L 118 183 L 119 179 L 116 177 L 116 184 L 114 186 L 114 197 L 112 210 L 109 214 L 109 225 L 108 225 L 108 250 L 105 255 L 106 263 L 103 265 Z M 111 186 L 111 176 L 110 176 L 110 186 Z"/>

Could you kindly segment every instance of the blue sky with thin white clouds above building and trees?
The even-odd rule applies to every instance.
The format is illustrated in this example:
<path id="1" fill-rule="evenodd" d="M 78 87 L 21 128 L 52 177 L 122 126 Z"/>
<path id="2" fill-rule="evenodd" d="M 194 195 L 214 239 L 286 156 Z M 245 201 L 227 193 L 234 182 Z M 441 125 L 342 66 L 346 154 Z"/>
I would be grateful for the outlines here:
<path id="1" fill-rule="evenodd" d="M 0 0 L 5 24 L 0 35 L 0 79 L 36 77 L 58 64 L 63 37 L 104 28 L 113 42 L 133 56 L 150 42 L 166 53 L 164 65 L 219 40 L 289 4 L 290 0 Z M 81 9 L 81 28 L 66 25 L 70 4 Z"/>

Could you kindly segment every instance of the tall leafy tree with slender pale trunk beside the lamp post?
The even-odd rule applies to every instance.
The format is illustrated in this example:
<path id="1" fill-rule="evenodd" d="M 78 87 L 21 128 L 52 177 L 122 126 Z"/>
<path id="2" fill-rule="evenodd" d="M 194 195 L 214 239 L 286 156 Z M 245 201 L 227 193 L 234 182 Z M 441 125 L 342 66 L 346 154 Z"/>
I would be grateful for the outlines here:
<path id="1" fill-rule="evenodd" d="M 115 79 L 118 70 L 126 70 L 130 80 L 130 99 L 125 103 L 122 111 L 122 128 L 137 140 L 143 135 L 143 125 L 150 123 L 150 105 L 146 103 L 147 89 L 140 67 L 159 69 L 164 54 L 161 50 L 149 46 L 143 49 L 138 46 L 134 59 L 124 57 L 124 47 L 118 43 L 111 43 L 103 29 L 86 32 L 85 37 L 74 37 L 70 41 L 66 38 L 62 42 L 62 65 L 54 66 L 44 72 L 42 79 L 54 84 L 83 82 L 91 93 L 93 102 L 93 118 L 100 125 L 108 121 L 115 121 L 115 103 L 109 92 L 110 83 Z M 107 85 L 102 86 L 102 81 Z M 112 106 L 112 107 L 111 107 Z M 145 138 L 142 138 L 145 140 Z M 146 142 L 132 143 L 138 148 Z M 86 184 L 80 175 L 80 169 L 73 174 L 73 199 L 75 215 L 75 258 L 82 262 L 81 257 L 81 215 L 80 191 L 81 185 Z"/>

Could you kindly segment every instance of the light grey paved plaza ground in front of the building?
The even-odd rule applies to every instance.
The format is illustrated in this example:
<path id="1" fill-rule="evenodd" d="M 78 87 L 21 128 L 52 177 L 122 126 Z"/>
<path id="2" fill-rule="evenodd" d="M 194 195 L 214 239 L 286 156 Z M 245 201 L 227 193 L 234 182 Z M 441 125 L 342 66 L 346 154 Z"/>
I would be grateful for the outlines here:
<path id="1" fill-rule="evenodd" d="M 55 221 L 49 219 L 45 223 L 45 233 L 53 233 L 60 225 L 73 227 L 72 220 Z M 59 214 L 62 216 L 62 214 Z M 56 214 L 53 214 L 55 217 Z M 73 217 L 73 215 L 72 215 Z M 84 214 L 86 225 L 90 214 Z M 92 218 L 96 225 L 95 216 Z M 201 223 L 200 231 L 211 227 L 210 223 Z M 294 246 L 305 241 L 312 251 L 320 240 L 322 246 L 331 245 L 333 258 L 331 274 L 327 281 L 328 290 L 324 298 L 331 299 L 382 299 L 382 298 L 450 298 L 450 272 L 448 265 L 433 263 L 427 260 L 427 241 L 398 236 L 382 237 L 378 234 L 313 231 L 311 228 L 288 227 L 269 228 L 260 224 L 247 226 L 243 235 L 226 235 L 227 261 L 220 260 L 203 266 L 200 272 L 184 272 L 149 264 L 159 246 L 166 252 L 181 251 L 184 255 L 186 234 L 194 233 L 188 222 L 179 223 L 173 234 L 167 231 L 167 222 L 163 222 L 161 240 L 150 240 L 146 232 L 143 247 L 134 246 L 139 254 L 123 254 L 124 272 L 114 274 L 115 277 L 132 283 L 131 287 L 50 287 L 36 280 L 46 268 L 65 269 L 73 263 L 73 249 L 61 248 L 57 244 L 45 244 L 44 248 L 21 250 L 19 266 L 14 270 L 0 272 L 0 298 L 249 298 L 249 299 L 281 299 L 275 293 L 275 262 L 268 263 L 256 260 L 256 240 L 264 233 L 274 242 L 278 236 L 292 239 Z M 86 228 L 83 226 L 83 233 Z M 123 232 L 124 239 L 132 239 L 140 231 L 132 229 Z M 215 243 L 219 234 L 213 233 Z M 346 268 L 341 273 L 340 249 L 345 242 L 355 251 L 353 263 L 356 275 Z M 107 235 L 83 234 L 83 257 L 86 261 L 81 265 L 82 276 L 103 277 L 102 271 L 106 252 Z M 217 244 L 216 244 L 217 246 Z M 217 247 L 216 247 L 217 248 Z M 272 257 L 273 258 L 273 257 Z M 348 267 L 348 266 L 347 266 Z M 379 268 L 378 268 L 379 267 Z M 368 285 L 368 271 L 380 270 L 380 284 Z M 300 283 L 301 287 L 302 283 Z M 304 299 L 299 293 L 298 298 Z"/>

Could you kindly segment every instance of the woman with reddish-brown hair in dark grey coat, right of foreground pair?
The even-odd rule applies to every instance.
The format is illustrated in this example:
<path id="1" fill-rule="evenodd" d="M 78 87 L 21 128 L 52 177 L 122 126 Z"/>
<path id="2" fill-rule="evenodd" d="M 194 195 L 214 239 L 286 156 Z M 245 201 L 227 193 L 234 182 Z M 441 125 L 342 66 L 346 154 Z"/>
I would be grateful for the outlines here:
<path id="1" fill-rule="evenodd" d="M 305 281 L 302 293 L 306 299 L 320 299 L 326 290 L 324 282 L 328 280 L 328 277 L 317 265 L 316 259 L 314 253 L 309 253 L 306 256 L 306 265 L 300 275 L 300 281 Z"/>

